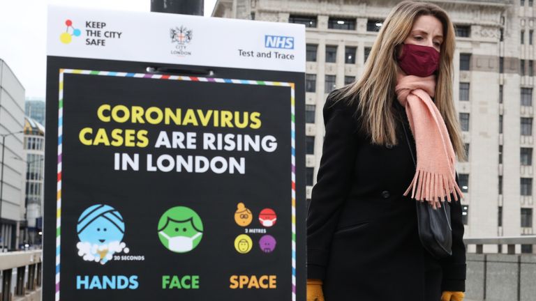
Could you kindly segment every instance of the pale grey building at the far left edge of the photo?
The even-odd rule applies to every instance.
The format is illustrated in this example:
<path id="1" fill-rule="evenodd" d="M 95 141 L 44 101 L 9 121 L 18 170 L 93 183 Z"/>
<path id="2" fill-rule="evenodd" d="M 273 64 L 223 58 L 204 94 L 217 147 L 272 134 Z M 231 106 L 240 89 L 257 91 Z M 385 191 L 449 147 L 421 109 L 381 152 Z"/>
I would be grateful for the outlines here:
<path id="1" fill-rule="evenodd" d="M 17 249 L 24 226 L 23 127 L 24 87 L 0 60 L 0 250 Z"/>

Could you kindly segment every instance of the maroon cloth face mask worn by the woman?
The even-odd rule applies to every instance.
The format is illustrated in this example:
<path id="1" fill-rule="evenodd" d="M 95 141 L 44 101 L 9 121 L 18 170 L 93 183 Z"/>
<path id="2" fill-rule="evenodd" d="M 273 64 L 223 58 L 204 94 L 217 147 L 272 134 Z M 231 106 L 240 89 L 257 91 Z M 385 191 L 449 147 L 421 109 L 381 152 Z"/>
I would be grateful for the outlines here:
<path id="1" fill-rule="evenodd" d="M 430 76 L 439 68 L 439 52 L 429 46 L 403 44 L 399 66 L 407 75 Z"/>

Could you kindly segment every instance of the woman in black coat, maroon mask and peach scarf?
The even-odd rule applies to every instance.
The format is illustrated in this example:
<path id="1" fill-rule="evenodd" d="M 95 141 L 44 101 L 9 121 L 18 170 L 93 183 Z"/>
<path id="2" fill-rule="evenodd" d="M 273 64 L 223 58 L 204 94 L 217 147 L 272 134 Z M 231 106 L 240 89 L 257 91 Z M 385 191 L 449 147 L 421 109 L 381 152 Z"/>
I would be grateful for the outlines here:
<path id="1" fill-rule="evenodd" d="M 454 164 L 465 151 L 453 56 L 445 11 L 403 1 L 383 23 L 361 79 L 329 94 L 308 208 L 308 301 L 463 300 L 463 194 Z M 424 249 L 415 199 L 451 207 L 452 256 L 438 260 Z"/>

